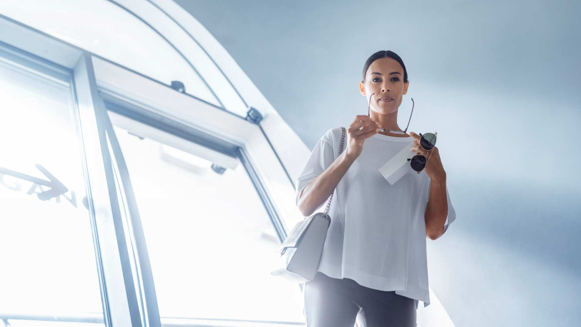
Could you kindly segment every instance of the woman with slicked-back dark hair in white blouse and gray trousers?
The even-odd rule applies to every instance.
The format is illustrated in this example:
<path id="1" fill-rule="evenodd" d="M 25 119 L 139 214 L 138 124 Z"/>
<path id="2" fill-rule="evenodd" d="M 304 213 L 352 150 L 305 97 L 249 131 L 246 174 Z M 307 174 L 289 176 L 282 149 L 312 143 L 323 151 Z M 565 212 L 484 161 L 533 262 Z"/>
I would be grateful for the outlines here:
<path id="1" fill-rule="evenodd" d="M 303 289 L 309 327 L 352 327 L 357 315 L 370 327 L 416 326 L 418 301 L 429 305 L 426 238 L 442 236 L 456 219 L 439 151 L 430 151 L 425 173 L 407 173 L 393 185 L 378 170 L 410 145 L 428 157 L 417 134 L 390 132 L 401 131 L 397 111 L 408 86 L 397 54 L 371 55 L 359 83 L 370 113 L 346 130 L 341 155 L 342 129 L 328 130 L 297 179 L 304 216 L 335 191 L 318 271 Z"/>

